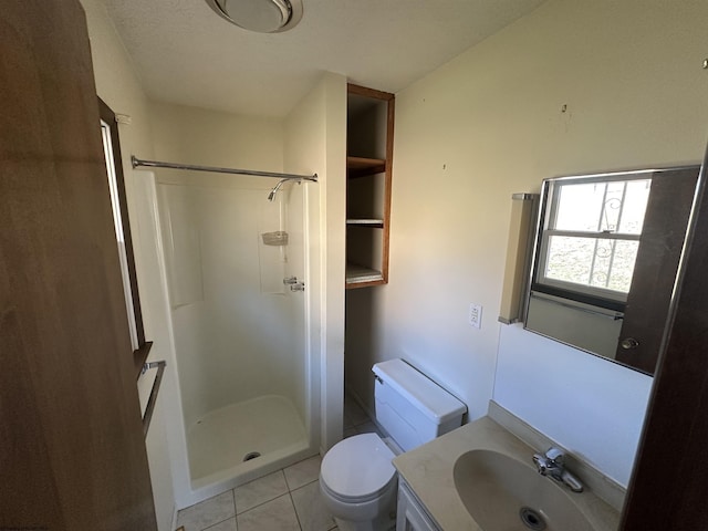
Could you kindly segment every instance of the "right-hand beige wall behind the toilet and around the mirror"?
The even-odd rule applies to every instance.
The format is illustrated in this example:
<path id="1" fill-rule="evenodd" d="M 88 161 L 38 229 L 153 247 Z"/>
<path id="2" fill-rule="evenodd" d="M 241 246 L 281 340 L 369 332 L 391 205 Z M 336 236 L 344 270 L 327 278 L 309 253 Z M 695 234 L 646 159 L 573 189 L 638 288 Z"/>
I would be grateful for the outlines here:
<path id="1" fill-rule="evenodd" d="M 650 378 L 606 362 L 586 368 L 589 356 L 568 347 L 545 358 L 550 342 L 497 323 L 510 196 L 545 177 L 698 162 L 706 20 L 702 1 L 550 0 L 397 94 L 391 283 L 366 295 L 373 330 L 362 343 L 373 355 L 347 344 L 357 394 L 372 398 L 371 363 L 402 356 L 470 418 L 493 394 L 626 482 Z M 483 305 L 481 330 L 467 324 L 470 302 Z M 534 385 L 519 396 L 523 378 Z M 597 400 L 610 379 L 627 382 L 631 407 Z"/>

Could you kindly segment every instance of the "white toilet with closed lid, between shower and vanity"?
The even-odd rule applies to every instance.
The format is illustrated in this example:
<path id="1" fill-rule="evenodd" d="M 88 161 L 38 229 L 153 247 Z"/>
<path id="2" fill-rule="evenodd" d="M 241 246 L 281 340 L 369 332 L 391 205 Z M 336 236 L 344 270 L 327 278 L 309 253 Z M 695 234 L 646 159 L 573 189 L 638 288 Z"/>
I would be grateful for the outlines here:
<path id="1" fill-rule="evenodd" d="M 462 423 L 467 406 L 403 360 L 377 363 L 376 421 L 388 437 L 348 437 L 327 451 L 320 490 L 342 531 L 384 531 L 396 525 L 398 480 L 393 458 Z"/>

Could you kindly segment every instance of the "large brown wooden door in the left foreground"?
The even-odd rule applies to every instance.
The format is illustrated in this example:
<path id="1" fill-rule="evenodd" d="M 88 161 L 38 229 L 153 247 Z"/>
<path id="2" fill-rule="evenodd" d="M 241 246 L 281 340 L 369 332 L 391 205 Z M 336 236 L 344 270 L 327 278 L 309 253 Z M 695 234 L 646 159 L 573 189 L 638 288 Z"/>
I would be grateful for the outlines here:
<path id="1" fill-rule="evenodd" d="M 0 529 L 156 529 L 83 10 L 0 9 Z"/>

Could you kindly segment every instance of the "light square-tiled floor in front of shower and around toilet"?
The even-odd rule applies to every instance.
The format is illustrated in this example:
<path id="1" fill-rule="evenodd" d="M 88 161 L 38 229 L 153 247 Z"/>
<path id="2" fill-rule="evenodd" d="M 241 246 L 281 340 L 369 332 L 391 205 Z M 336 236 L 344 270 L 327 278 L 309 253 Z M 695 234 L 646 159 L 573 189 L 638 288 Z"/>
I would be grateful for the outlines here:
<path id="1" fill-rule="evenodd" d="M 366 413 L 344 400 L 344 437 L 378 433 Z M 336 530 L 320 494 L 320 456 L 256 479 L 179 511 L 185 531 Z"/>

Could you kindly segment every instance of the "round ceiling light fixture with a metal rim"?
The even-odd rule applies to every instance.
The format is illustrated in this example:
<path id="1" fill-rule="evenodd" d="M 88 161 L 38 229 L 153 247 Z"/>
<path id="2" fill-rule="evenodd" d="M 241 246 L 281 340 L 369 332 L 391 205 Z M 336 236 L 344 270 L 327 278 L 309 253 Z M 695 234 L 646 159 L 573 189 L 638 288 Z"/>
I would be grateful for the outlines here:
<path id="1" fill-rule="evenodd" d="M 220 17 L 260 33 L 288 31 L 302 19 L 302 0 L 207 0 Z"/>

